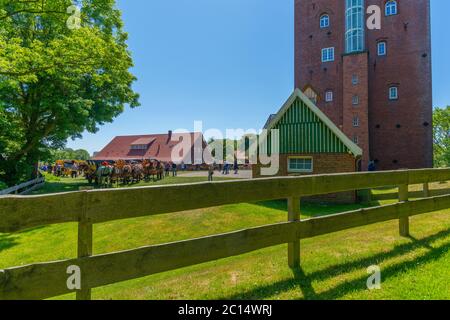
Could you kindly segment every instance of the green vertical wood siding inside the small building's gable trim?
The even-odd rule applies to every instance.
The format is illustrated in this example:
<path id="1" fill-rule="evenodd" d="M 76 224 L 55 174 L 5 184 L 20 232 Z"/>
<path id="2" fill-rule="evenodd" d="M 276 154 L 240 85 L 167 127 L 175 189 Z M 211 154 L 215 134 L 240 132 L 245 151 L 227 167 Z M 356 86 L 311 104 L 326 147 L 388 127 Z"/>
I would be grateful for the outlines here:
<path id="1" fill-rule="evenodd" d="M 280 153 L 347 153 L 349 149 L 300 99 L 273 129 L 279 130 Z M 269 134 L 268 150 L 271 153 Z"/>

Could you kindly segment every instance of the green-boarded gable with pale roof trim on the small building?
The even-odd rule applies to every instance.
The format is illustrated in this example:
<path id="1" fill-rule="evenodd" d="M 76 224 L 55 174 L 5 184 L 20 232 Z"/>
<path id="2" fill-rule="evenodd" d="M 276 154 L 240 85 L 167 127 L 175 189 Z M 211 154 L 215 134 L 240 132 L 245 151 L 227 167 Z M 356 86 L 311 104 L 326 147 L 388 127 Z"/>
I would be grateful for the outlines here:
<path id="1" fill-rule="evenodd" d="M 280 153 L 352 153 L 362 150 L 322 113 L 300 90 L 296 90 L 268 125 L 278 129 Z M 271 153 L 271 136 L 268 151 Z"/>

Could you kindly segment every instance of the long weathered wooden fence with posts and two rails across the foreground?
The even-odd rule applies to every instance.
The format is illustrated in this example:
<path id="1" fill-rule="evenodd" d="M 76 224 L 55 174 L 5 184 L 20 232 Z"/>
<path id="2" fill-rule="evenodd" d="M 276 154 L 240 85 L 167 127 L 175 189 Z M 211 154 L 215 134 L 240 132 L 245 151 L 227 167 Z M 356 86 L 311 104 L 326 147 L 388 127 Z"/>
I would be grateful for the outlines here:
<path id="1" fill-rule="evenodd" d="M 409 233 L 409 217 L 450 208 L 450 195 L 408 201 L 408 185 L 450 180 L 450 169 L 281 177 L 0 198 L 0 232 L 78 222 L 78 257 L 0 270 L 1 299 L 45 299 L 68 289 L 69 267 L 81 270 L 77 299 L 90 299 L 91 288 L 174 270 L 251 251 L 288 245 L 289 266 L 300 264 L 300 239 L 399 220 Z M 319 218 L 300 220 L 300 198 L 311 195 L 399 187 L 399 202 Z M 161 201 L 164 199 L 164 201 Z M 288 199 L 288 220 L 204 238 L 92 255 L 92 225 L 106 221 L 201 209 L 226 204 Z"/>

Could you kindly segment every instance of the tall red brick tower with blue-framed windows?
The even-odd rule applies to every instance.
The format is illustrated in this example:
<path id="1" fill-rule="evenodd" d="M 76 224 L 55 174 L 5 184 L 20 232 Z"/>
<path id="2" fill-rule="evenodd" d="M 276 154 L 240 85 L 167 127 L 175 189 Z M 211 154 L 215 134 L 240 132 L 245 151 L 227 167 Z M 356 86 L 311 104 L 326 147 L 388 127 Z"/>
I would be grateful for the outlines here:
<path id="1" fill-rule="evenodd" d="M 362 170 L 433 164 L 430 29 L 429 0 L 295 1 L 295 86 L 363 149 Z"/>

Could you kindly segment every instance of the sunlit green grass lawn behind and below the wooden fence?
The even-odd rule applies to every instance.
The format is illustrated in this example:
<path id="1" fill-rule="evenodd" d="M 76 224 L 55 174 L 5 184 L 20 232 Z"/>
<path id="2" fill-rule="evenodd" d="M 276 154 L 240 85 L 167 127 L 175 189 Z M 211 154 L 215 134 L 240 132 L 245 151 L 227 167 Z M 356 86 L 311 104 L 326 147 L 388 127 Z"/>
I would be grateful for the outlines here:
<path id="1" fill-rule="evenodd" d="M 204 181 L 178 177 L 163 183 Z M 39 193 L 78 190 L 81 179 L 55 179 Z M 432 188 L 448 189 L 450 184 Z M 411 188 L 413 197 L 419 188 Z M 440 194 L 443 191 L 433 191 Z M 448 192 L 448 191 L 447 191 Z M 395 189 L 376 190 L 371 205 L 393 202 Z M 164 201 L 164 200 L 162 200 Z M 360 205 L 302 204 L 303 218 Z M 285 221 L 286 202 L 244 203 L 94 226 L 94 253 L 201 237 Z M 76 224 L 0 234 L 0 268 L 76 256 Z M 302 240 L 302 268 L 287 266 L 287 245 L 93 289 L 94 299 L 450 299 L 450 210 Z M 366 288 L 379 265 L 382 289 Z M 58 299 L 73 299 L 73 295 Z"/>

